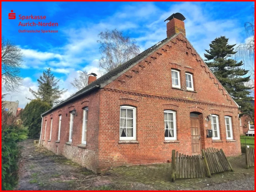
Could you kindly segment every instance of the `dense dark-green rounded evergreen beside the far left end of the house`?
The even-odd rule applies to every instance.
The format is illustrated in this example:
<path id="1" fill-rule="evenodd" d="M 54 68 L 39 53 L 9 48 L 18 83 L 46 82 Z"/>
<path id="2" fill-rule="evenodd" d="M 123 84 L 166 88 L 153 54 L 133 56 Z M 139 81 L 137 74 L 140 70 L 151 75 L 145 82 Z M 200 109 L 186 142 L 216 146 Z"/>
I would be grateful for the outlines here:
<path id="1" fill-rule="evenodd" d="M 28 127 L 28 137 L 39 138 L 41 131 L 42 118 L 41 114 L 51 108 L 50 104 L 40 99 L 31 100 L 28 103 L 22 114 L 21 119 L 23 125 Z"/>

